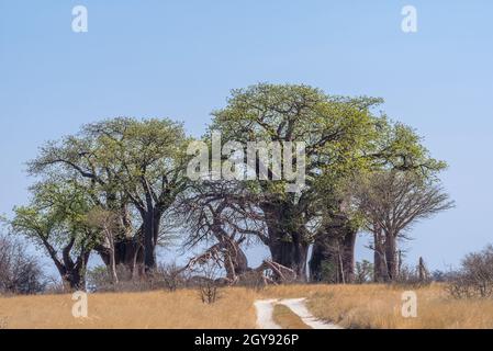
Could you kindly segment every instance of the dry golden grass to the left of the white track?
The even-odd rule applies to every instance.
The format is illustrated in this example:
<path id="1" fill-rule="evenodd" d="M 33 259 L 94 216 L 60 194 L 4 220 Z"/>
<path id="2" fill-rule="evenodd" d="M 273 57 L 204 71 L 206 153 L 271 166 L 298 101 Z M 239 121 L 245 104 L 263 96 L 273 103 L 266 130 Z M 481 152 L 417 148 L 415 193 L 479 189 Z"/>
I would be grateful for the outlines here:
<path id="1" fill-rule="evenodd" d="M 237 329 L 255 328 L 255 293 L 229 288 L 213 305 L 197 291 L 89 295 L 88 318 L 71 315 L 71 295 L 0 298 L 7 328 Z"/>

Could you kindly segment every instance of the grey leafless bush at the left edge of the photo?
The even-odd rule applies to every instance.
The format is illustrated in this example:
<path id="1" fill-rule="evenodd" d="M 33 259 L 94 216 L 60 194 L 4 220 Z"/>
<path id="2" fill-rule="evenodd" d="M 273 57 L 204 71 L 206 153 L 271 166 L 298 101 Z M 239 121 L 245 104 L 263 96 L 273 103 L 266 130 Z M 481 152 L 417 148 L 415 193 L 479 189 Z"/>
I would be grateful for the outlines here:
<path id="1" fill-rule="evenodd" d="M 37 294 L 46 285 L 43 270 L 19 240 L 0 236 L 0 293 Z"/>

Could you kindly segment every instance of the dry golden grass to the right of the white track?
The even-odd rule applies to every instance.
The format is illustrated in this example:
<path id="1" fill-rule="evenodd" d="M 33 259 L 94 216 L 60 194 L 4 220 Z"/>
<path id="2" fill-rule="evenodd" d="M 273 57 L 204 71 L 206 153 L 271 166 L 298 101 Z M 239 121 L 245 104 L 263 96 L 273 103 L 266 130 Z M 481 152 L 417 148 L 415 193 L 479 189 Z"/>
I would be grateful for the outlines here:
<path id="1" fill-rule="evenodd" d="M 417 294 L 417 317 L 402 316 L 402 293 Z M 309 307 L 345 328 L 469 329 L 493 328 L 493 301 L 457 301 L 441 285 L 404 288 L 385 285 L 326 286 L 311 295 Z"/>

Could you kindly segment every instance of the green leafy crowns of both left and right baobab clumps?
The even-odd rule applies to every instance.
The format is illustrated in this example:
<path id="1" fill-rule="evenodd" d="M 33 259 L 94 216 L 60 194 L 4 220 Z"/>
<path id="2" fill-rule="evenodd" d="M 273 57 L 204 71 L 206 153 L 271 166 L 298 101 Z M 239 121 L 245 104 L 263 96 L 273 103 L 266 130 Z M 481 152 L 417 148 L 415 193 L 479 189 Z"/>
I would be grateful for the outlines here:
<path id="1" fill-rule="evenodd" d="M 376 113 L 382 102 L 328 95 L 304 84 L 260 83 L 232 92 L 227 105 L 212 113 L 204 140 L 211 143 L 210 134 L 219 131 L 223 144 L 305 143 L 306 186 L 300 193 L 287 193 L 285 181 L 272 180 L 247 181 L 238 189 L 248 192 L 242 201 L 262 210 L 280 240 L 307 245 L 317 233 L 315 224 L 336 214 L 345 214 L 355 228 L 365 223 L 348 200 L 355 179 L 399 170 L 428 180 L 446 167 L 429 156 L 414 129 Z M 32 189 L 31 204 L 14 210 L 12 227 L 45 248 L 74 241 L 80 251 L 102 242 L 88 215 L 111 213 L 120 224 L 116 237 L 144 233 L 150 264 L 148 246 L 159 241 L 161 217 L 190 186 L 190 141 L 181 123 L 119 117 L 47 143 L 29 163 L 42 181 Z"/>

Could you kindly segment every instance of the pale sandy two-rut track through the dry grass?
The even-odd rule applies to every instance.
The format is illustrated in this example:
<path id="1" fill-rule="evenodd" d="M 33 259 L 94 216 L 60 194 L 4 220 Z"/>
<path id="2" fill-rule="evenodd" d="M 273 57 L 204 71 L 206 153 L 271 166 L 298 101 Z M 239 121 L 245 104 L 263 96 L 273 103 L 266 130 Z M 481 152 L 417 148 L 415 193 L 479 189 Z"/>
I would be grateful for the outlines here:
<path id="1" fill-rule="evenodd" d="M 290 299 L 261 299 L 255 302 L 257 309 L 257 328 L 259 329 L 281 329 L 272 319 L 273 306 L 281 304 L 288 306 L 294 314 L 300 316 L 305 325 L 312 329 L 341 329 L 340 327 L 316 319 L 306 308 L 306 298 Z"/>

